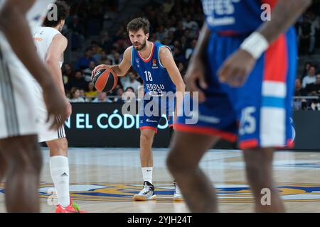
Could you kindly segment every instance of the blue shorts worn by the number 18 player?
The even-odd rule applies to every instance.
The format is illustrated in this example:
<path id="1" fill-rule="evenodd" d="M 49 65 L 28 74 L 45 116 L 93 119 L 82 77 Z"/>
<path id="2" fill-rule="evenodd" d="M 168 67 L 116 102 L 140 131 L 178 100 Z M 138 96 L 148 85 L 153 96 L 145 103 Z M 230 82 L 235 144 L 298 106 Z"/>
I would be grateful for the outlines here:
<path id="1" fill-rule="evenodd" d="M 154 101 L 154 105 L 151 105 L 151 101 Z M 161 104 L 163 104 L 161 106 Z M 161 97 L 150 97 L 150 100 L 143 100 L 142 105 L 139 109 L 139 128 L 140 130 L 149 128 L 157 132 L 160 120 L 162 117 L 166 117 L 169 123 L 169 128 L 174 126 L 174 109 L 175 101 L 164 99 Z M 151 113 L 150 113 L 150 111 Z"/>

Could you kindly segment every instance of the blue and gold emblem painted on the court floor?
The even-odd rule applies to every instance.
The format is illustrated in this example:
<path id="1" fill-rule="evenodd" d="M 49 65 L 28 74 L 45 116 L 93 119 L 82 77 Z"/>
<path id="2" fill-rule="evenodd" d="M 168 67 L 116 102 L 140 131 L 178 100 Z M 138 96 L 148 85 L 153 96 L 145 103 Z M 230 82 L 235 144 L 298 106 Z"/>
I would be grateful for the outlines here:
<path id="1" fill-rule="evenodd" d="M 171 182 L 155 182 L 157 202 L 171 202 L 174 185 Z M 1 193 L 4 186 L 1 185 Z M 320 184 L 282 183 L 276 185 L 284 202 L 320 201 Z M 70 184 L 70 196 L 74 200 L 85 201 L 132 201 L 134 194 L 142 189 L 141 183 L 81 183 Z M 218 201 L 222 203 L 252 203 L 250 187 L 245 182 L 223 182 L 215 184 Z M 53 184 L 43 184 L 39 188 L 41 198 L 53 199 Z"/>

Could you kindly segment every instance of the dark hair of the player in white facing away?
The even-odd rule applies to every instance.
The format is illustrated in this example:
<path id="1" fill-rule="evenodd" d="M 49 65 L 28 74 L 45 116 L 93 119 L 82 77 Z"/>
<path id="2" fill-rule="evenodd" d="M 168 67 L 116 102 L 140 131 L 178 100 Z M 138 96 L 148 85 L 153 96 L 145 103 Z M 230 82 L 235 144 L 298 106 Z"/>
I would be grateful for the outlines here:
<path id="1" fill-rule="evenodd" d="M 52 10 L 55 8 L 54 8 L 54 6 L 52 6 L 48 11 L 48 14 L 46 16 L 45 21 L 43 22 L 43 26 L 46 26 L 46 27 L 58 26 L 58 24 L 61 21 L 65 20 L 65 18 L 67 18 L 67 16 L 69 15 L 70 7 L 68 6 L 68 4 L 65 3 L 65 1 L 55 1 L 55 4 L 53 4 L 53 5 L 57 6 L 57 8 L 56 8 L 57 9 L 57 12 L 56 12 L 57 17 L 53 16 Z"/>

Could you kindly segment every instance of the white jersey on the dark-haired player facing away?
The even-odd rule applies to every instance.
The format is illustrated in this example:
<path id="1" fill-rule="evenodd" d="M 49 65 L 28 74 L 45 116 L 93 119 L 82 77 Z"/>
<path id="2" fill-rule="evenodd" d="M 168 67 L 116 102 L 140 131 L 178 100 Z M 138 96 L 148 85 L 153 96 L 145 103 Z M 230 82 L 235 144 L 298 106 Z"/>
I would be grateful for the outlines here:
<path id="1" fill-rule="evenodd" d="M 39 27 L 33 34 L 33 39 L 36 44 L 37 52 L 41 60 L 43 60 L 43 62 L 46 62 L 48 50 L 55 35 L 61 35 L 61 33 L 57 29 L 50 27 Z M 61 56 L 60 67 L 62 67 L 62 65 L 63 55 Z"/>

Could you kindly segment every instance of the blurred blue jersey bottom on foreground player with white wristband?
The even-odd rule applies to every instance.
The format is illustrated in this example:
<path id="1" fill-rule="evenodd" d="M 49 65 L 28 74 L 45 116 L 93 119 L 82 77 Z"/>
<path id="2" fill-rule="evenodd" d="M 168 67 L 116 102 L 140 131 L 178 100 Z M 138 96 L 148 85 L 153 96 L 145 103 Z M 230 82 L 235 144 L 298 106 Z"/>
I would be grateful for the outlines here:
<path id="1" fill-rule="evenodd" d="M 269 4 L 272 9 L 276 3 L 277 0 L 202 0 L 210 31 L 226 35 L 257 30 L 266 16 L 267 8 L 262 4 Z"/>

